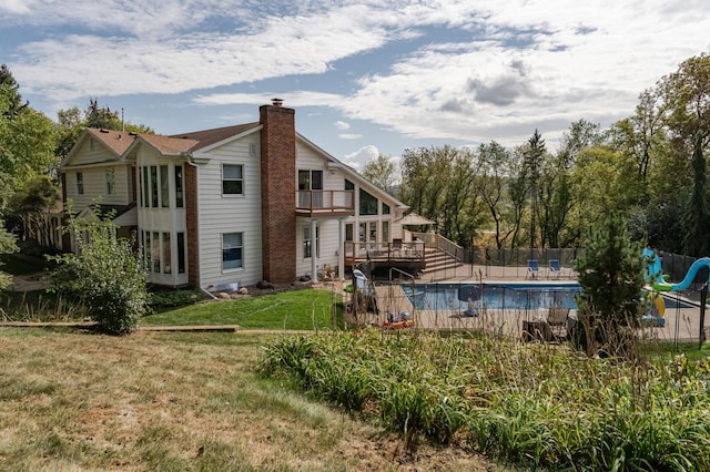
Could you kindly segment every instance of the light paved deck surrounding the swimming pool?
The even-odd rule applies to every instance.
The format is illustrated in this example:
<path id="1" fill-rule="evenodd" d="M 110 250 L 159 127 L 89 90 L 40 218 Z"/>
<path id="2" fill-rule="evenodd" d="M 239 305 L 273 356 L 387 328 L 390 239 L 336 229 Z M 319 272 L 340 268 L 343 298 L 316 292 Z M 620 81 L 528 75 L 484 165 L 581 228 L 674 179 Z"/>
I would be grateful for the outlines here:
<path id="1" fill-rule="evenodd" d="M 527 276 L 526 267 L 479 267 L 463 266 L 439 273 L 427 274 L 417 278 L 415 284 L 534 284 L 534 285 L 576 285 L 576 274 L 571 269 L 562 269 L 561 277 L 549 277 L 545 269 L 540 269 L 538 277 Z M 382 325 L 388 314 L 407 311 L 416 320 L 416 328 L 426 330 L 481 330 L 495 332 L 505 337 L 523 337 L 524 321 L 545 319 L 547 309 L 542 310 L 479 310 L 477 317 L 466 317 L 463 314 L 465 304 L 458 309 L 450 310 L 415 310 L 412 302 L 399 285 L 377 285 L 377 300 L 381 310 L 379 318 L 374 324 Z M 667 308 L 662 328 L 645 328 L 643 336 L 663 341 L 692 342 L 699 340 L 700 308 L 697 293 L 669 293 L 670 298 L 694 305 L 692 308 Z M 576 310 L 570 317 L 576 318 Z M 708 314 L 710 317 L 710 312 Z M 710 328 L 706 322 L 706 336 L 710 336 Z"/>

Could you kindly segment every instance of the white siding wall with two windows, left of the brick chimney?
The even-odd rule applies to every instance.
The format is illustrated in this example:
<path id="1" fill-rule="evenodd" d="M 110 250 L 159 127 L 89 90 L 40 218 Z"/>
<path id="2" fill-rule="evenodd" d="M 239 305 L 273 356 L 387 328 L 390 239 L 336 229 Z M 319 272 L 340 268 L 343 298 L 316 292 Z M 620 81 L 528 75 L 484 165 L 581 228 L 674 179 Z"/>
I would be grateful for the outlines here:
<path id="1" fill-rule="evenodd" d="M 253 285 L 263 278 L 258 137 L 258 133 L 253 133 L 212 150 L 210 162 L 197 164 L 202 287 L 233 280 Z M 250 145 L 256 145 L 256 156 L 250 154 Z M 243 165 L 243 195 L 222 195 L 222 164 Z M 222 270 L 222 234 L 225 233 L 243 234 L 241 269 Z"/>

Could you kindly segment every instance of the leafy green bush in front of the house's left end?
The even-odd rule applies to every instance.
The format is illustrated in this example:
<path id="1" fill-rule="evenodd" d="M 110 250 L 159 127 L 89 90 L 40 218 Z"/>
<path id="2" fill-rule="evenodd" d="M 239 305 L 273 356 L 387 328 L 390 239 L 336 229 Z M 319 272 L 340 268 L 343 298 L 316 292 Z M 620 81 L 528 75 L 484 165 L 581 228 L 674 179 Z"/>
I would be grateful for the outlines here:
<path id="1" fill-rule="evenodd" d="M 114 215 L 102 219 L 98 203 L 90 220 L 73 216 L 71 203 L 67 214 L 67 230 L 79 252 L 50 258 L 59 263 L 52 290 L 81 300 L 100 331 L 132 331 L 148 311 L 148 273 L 133 253 L 132 242 L 116 237 Z"/>

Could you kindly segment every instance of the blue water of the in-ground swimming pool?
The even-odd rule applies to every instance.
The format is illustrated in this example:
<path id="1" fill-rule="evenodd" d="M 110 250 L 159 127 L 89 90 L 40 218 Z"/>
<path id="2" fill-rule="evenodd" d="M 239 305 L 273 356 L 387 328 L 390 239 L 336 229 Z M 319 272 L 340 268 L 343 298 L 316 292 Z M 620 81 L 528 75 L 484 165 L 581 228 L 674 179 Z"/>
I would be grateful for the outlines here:
<path id="1" fill-rule="evenodd" d="M 577 284 L 419 284 L 402 289 L 417 309 L 465 310 L 470 298 L 476 310 L 537 310 L 549 307 L 577 309 Z M 666 297 L 666 308 L 691 307 Z"/>

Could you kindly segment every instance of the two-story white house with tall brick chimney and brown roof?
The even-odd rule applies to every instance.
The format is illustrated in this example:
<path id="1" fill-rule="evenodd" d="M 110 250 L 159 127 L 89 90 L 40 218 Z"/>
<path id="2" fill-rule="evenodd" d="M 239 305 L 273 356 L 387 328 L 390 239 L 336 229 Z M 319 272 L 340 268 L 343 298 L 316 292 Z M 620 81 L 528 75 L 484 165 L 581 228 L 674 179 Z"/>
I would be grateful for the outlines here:
<path id="1" fill-rule="evenodd" d="M 257 122 L 173 136 L 88 129 L 61 177 L 80 215 L 101 197 L 168 287 L 343 278 L 345 252 L 400 240 L 408 209 L 298 134 L 281 101 Z"/>

